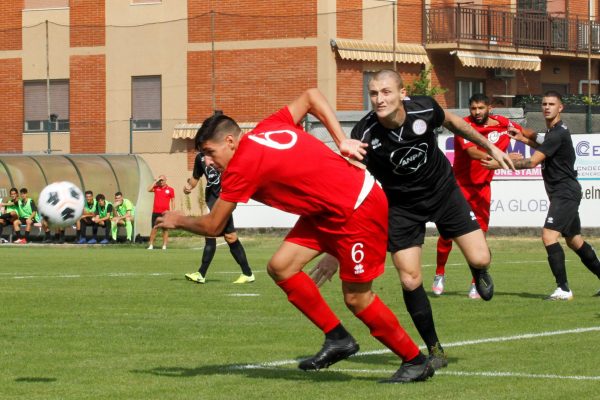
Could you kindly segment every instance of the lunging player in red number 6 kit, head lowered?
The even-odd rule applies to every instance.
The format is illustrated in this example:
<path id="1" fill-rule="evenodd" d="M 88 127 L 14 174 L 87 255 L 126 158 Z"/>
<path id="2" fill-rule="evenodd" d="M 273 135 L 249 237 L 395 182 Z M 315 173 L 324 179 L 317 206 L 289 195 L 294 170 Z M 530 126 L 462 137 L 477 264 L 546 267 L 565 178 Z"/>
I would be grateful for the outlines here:
<path id="1" fill-rule="evenodd" d="M 267 271 L 288 300 L 325 334 L 325 342 L 299 368 L 318 370 L 341 361 L 359 349 L 302 270 L 329 253 L 341 264 L 344 302 L 367 325 L 377 340 L 403 363 L 383 382 L 426 380 L 434 374 L 431 361 L 419 351 L 392 311 L 372 291 L 372 281 L 384 270 L 387 201 L 364 169 L 331 151 L 298 125 L 306 113 L 344 137 L 335 113 L 317 89 L 310 89 L 254 130 L 242 135 L 225 115 L 202 124 L 196 147 L 207 163 L 222 171 L 221 195 L 210 213 L 201 217 L 177 212 L 159 218 L 159 227 L 182 228 L 216 236 L 237 203 L 254 199 L 300 216 L 268 263 Z M 337 143 L 344 156 L 362 157 L 356 141 Z"/>

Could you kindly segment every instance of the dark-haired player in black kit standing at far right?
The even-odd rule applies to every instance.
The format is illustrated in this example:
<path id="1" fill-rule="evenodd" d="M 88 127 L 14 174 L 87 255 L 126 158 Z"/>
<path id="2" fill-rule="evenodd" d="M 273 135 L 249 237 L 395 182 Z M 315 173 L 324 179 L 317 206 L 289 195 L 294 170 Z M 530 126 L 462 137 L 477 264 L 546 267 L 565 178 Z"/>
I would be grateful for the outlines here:
<path id="1" fill-rule="evenodd" d="M 567 246 L 573 250 L 593 274 L 600 278 L 600 261 L 596 252 L 581 236 L 579 203 L 581 185 L 577 181 L 575 170 L 575 150 L 569 128 L 560 119 L 563 110 L 562 96 L 555 91 L 544 93 L 542 112 L 546 120 L 546 133 L 519 131 L 512 128 L 511 135 L 517 140 L 535 148 L 531 158 L 514 162 L 517 169 L 535 168 L 542 164 L 542 178 L 550 208 L 542 230 L 542 242 L 548 253 L 550 270 L 556 279 L 556 289 L 548 300 L 571 300 L 573 292 L 567 282 L 565 252 L 558 242 L 560 235 L 565 237 Z M 492 161 L 483 161 L 490 169 L 498 165 Z M 600 292 L 599 292 L 600 293 Z"/>

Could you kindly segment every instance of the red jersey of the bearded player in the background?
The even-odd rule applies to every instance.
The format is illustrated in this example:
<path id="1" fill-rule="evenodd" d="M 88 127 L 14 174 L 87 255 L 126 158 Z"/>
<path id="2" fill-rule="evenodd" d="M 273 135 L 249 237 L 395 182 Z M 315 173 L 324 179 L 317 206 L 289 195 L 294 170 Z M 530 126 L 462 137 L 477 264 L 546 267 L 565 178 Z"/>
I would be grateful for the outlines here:
<path id="1" fill-rule="evenodd" d="M 506 151 L 510 144 L 510 135 L 508 134 L 508 127 L 514 126 L 517 129 L 521 129 L 519 124 L 511 122 L 508 118 L 500 115 L 490 115 L 489 119 L 498 121 L 498 125 L 477 125 L 470 116 L 464 118 L 475 130 L 485 136 L 490 142 L 502 151 Z M 454 136 L 454 176 L 456 180 L 462 186 L 465 185 L 482 185 L 490 184 L 494 177 L 494 171 L 489 170 L 481 165 L 479 160 L 474 160 L 469 157 L 467 149 L 469 147 L 477 147 L 479 150 L 485 152 L 484 149 L 477 146 L 458 135 Z"/>

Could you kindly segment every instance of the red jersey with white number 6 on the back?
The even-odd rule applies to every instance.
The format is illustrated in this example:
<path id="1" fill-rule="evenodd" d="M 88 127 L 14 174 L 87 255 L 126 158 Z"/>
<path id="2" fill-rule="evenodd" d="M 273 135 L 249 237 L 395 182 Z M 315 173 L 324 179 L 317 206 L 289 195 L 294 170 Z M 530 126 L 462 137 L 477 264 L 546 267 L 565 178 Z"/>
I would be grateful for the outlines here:
<path id="1" fill-rule="evenodd" d="M 366 172 L 294 124 L 287 107 L 245 134 L 221 176 L 221 198 L 250 198 L 301 216 L 347 220 L 368 194 Z M 370 189 L 370 186 L 368 187 Z"/>

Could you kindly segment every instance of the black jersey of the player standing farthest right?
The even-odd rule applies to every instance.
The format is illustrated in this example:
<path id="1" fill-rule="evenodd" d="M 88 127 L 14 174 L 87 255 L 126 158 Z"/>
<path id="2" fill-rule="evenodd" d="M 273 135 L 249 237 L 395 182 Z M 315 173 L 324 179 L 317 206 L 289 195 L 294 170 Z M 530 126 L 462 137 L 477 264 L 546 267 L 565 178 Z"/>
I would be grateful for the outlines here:
<path id="1" fill-rule="evenodd" d="M 581 198 L 581 185 L 575 170 L 575 150 L 567 126 L 558 121 L 546 131 L 544 142 L 536 149 L 544 153 L 542 177 L 548 197 Z"/>

